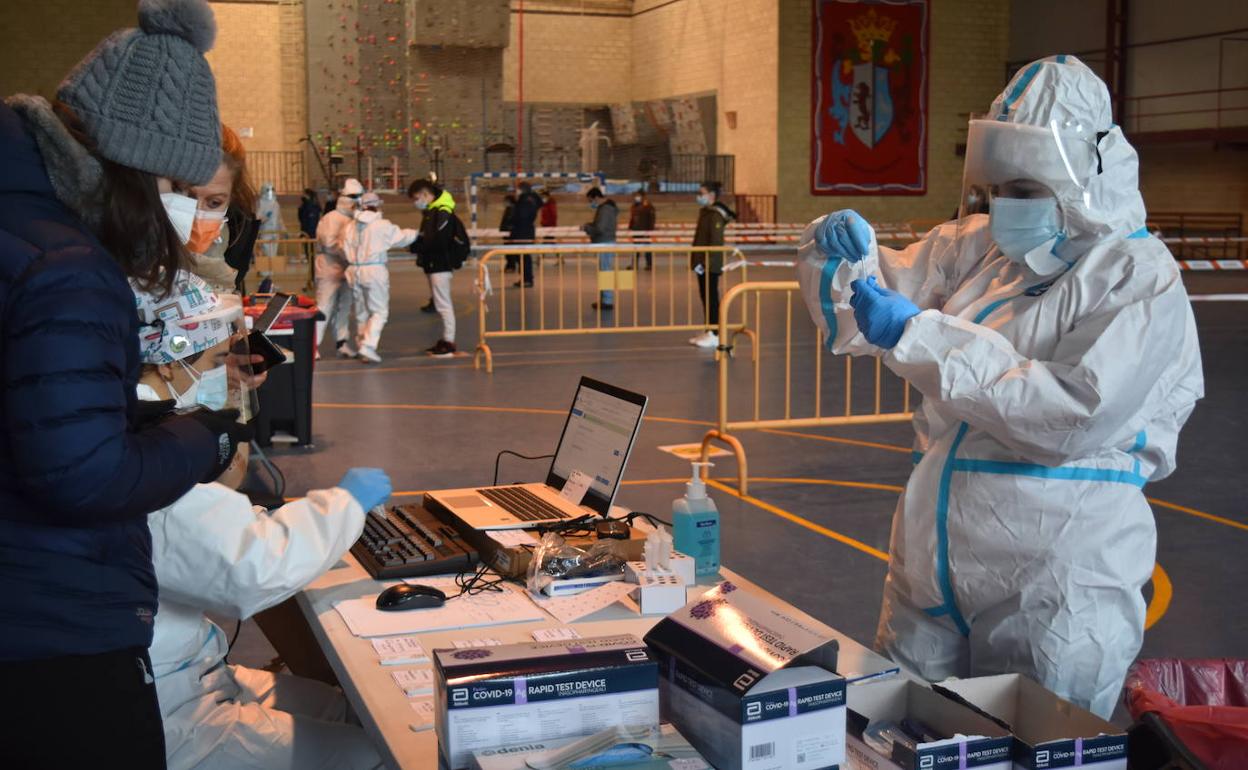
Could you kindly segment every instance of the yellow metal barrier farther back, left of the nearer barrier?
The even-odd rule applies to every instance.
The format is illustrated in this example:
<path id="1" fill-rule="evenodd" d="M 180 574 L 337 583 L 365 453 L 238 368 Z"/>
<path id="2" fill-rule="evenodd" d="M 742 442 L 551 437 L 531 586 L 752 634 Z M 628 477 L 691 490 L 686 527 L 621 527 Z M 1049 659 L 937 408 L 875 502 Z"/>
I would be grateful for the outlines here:
<path id="1" fill-rule="evenodd" d="M 651 271 L 640 270 L 639 257 L 646 253 L 654 262 Z M 504 246 L 487 251 L 477 266 L 480 341 L 473 366 L 480 368 L 484 359 L 485 371 L 494 371 L 489 339 L 499 337 L 714 328 L 716 321 L 709 311 L 703 308 L 695 313 L 701 301 L 696 276 L 689 267 L 691 253 L 723 253 L 725 265 L 739 265 L 725 272 L 721 280 L 726 281 L 730 276 L 746 280 L 748 266 L 741 252 L 731 246 L 568 243 Z M 514 276 L 505 275 L 500 258 L 515 256 L 523 260 L 525 255 L 533 260 L 534 286 L 530 291 L 537 293 L 533 298 L 524 287 L 512 286 L 522 273 L 518 270 Z M 603 255 L 614 255 L 608 270 L 600 268 Z M 490 286 L 498 290 L 493 308 L 493 297 L 485 291 Z M 605 313 L 599 306 L 603 291 L 614 292 L 614 309 Z M 592 311 L 588 318 L 587 309 Z M 492 311 L 498 317 L 495 328 L 488 324 Z M 740 322 L 731 323 L 723 313 L 718 321 L 721 326 L 728 323 L 726 328 L 739 329 L 746 323 L 745 313 L 743 306 Z"/>

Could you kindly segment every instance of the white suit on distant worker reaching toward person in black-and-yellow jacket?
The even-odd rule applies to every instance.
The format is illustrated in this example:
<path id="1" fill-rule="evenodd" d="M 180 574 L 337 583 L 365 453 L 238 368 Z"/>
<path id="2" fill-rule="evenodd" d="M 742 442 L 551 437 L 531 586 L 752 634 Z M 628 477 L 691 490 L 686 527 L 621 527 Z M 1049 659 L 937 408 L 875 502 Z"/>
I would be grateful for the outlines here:
<path id="1" fill-rule="evenodd" d="M 399 227 L 379 211 L 359 211 L 347 227 L 343 251 L 347 255 L 347 283 L 356 313 L 356 344 L 377 351 L 382 329 L 389 319 L 389 268 L 387 253 L 416 240 L 417 231 Z"/>

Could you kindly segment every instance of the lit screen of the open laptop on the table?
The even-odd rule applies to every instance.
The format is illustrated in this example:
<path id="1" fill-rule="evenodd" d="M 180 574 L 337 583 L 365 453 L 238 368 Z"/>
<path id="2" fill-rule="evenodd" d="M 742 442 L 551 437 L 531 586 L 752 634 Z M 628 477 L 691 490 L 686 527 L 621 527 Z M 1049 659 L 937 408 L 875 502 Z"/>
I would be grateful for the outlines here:
<path id="1" fill-rule="evenodd" d="M 573 470 L 593 482 L 582 500 L 607 515 L 645 412 L 645 396 L 580 378 L 547 483 L 562 489 Z"/>

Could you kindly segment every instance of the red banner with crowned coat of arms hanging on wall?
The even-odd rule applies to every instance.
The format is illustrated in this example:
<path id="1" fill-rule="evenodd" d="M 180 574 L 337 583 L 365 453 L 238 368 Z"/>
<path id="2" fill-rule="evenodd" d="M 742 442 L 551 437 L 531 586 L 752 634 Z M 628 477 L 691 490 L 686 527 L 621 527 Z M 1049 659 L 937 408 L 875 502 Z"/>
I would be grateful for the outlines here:
<path id="1" fill-rule="evenodd" d="M 814 195 L 927 192 L 927 0 L 815 0 Z"/>

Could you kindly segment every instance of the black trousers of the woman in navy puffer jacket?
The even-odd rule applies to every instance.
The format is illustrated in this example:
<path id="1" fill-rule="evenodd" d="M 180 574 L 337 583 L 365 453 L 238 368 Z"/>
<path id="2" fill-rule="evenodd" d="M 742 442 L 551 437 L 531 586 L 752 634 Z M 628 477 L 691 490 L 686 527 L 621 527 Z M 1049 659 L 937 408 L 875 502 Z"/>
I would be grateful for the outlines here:
<path id="1" fill-rule="evenodd" d="M 0 663 L 6 770 L 165 769 L 165 731 L 145 649 Z"/>

